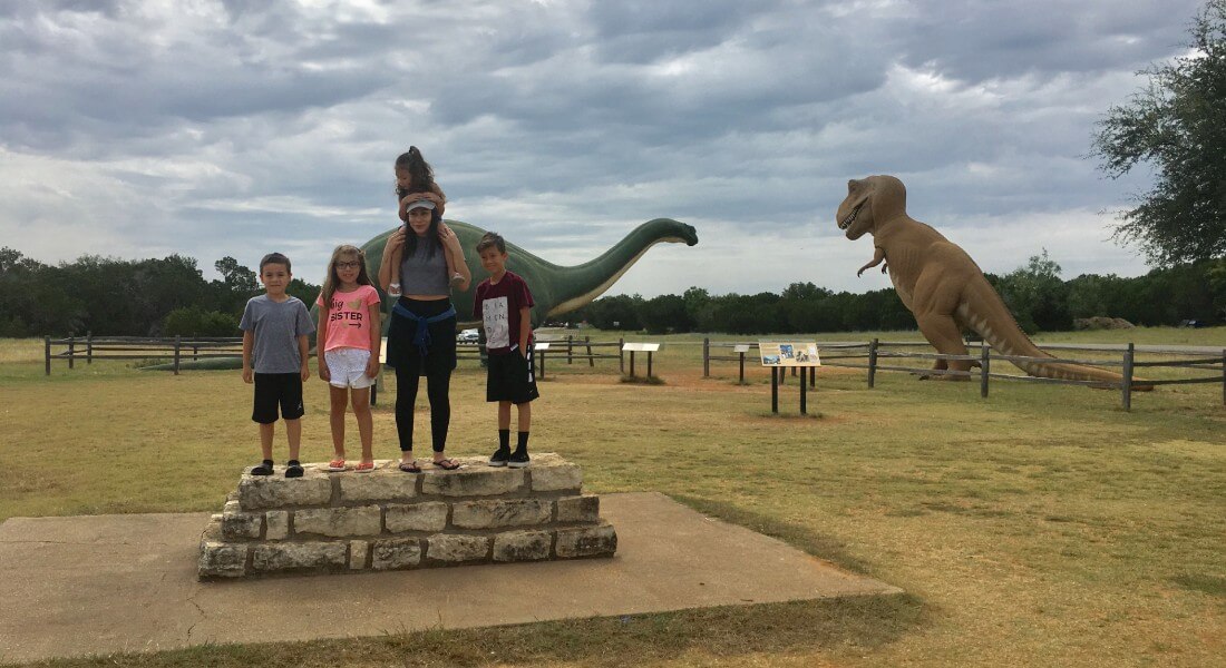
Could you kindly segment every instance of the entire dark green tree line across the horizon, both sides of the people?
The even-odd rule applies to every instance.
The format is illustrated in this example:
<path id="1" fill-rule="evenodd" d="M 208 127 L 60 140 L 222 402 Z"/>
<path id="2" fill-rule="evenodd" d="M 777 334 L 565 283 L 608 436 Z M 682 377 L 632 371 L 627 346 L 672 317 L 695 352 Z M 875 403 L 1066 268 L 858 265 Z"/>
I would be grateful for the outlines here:
<path id="1" fill-rule="evenodd" d="M 0 249 L 0 337 L 63 336 L 238 336 L 243 306 L 261 287 L 256 272 L 233 257 L 213 262 L 221 278 L 206 281 L 196 260 L 183 255 L 118 260 L 86 255 L 45 265 Z M 1083 275 L 1060 278 L 1047 256 L 1004 276 L 987 275 L 1021 327 L 1067 331 L 1080 317 L 1122 317 L 1134 325 L 1226 321 L 1226 260 L 1160 267 L 1145 276 Z M 313 304 L 319 286 L 294 278 L 289 294 Z M 731 335 L 891 331 L 916 328 L 915 317 L 893 288 L 832 292 L 812 282 L 781 293 L 683 294 L 645 299 L 597 299 L 571 321 L 603 330 L 712 332 Z"/>

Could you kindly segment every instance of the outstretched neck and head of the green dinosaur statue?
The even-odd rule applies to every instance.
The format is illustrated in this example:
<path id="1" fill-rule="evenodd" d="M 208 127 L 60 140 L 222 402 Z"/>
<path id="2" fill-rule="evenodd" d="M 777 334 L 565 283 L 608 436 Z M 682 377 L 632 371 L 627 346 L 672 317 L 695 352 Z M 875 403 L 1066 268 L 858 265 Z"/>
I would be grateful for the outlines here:
<path id="1" fill-rule="evenodd" d="M 651 246 L 662 241 L 684 243 L 685 239 L 677 230 L 678 224 L 664 218 L 649 221 L 595 260 L 571 267 L 550 265 L 554 279 L 564 281 L 565 284 L 554 283 L 557 293 L 563 299 L 546 315 L 566 313 L 596 299 L 629 271 Z M 565 277 L 562 276 L 563 270 L 566 272 Z"/>

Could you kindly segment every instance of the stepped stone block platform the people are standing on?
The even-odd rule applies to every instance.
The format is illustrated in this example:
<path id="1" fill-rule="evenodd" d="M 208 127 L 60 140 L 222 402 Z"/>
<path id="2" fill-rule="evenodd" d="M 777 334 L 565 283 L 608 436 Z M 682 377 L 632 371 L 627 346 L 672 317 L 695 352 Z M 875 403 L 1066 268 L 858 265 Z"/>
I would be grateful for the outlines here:
<path id="1" fill-rule="evenodd" d="M 546 452 L 528 468 L 395 461 L 371 472 L 329 473 L 304 465 L 302 478 L 244 472 L 200 541 L 206 579 L 272 574 L 363 572 L 468 564 L 612 556 L 617 532 L 600 498 L 582 494 L 582 471 Z"/>

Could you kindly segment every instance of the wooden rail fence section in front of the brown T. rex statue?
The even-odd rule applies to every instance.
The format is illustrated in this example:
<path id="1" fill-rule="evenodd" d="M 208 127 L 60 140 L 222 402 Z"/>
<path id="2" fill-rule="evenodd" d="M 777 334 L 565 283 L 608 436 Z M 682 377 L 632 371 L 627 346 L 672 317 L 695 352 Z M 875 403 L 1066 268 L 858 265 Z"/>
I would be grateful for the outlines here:
<path id="1" fill-rule="evenodd" d="M 745 352 L 741 352 L 737 355 L 726 354 L 711 354 L 712 348 L 734 348 L 737 346 L 748 347 L 749 349 L 758 349 L 758 343 L 744 343 L 744 342 L 712 342 L 710 338 L 702 340 L 702 376 L 710 378 L 711 375 L 711 362 L 739 362 L 741 363 L 741 381 L 744 382 L 744 358 Z M 1119 349 L 1121 359 L 1116 360 L 1102 360 L 1102 359 L 1072 359 L 1072 358 L 1046 358 L 1046 357 L 1025 357 L 1025 355 L 1007 355 L 999 352 L 994 352 L 991 346 L 986 342 L 972 343 L 967 342 L 967 348 L 975 348 L 978 346 L 978 354 L 966 354 L 966 355 L 946 355 L 939 353 L 927 353 L 927 352 L 908 352 L 906 348 L 931 348 L 928 343 L 924 342 L 911 342 L 911 341 L 895 341 L 895 342 L 883 342 L 877 338 L 868 342 L 850 342 L 850 343 L 819 343 L 821 349 L 821 364 L 824 366 L 842 366 L 848 369 L 864 369 L 868 374 L 868 386 L 873 387 L 877 380 L 877 371 L 905 371 L 911 374 L 924 374 L 924 375 L 953 375 L 962 376 L 967 379 L 978 379 L 980 381 L 980 396 L 988 396 L 988 386 L 991 379 L 998 380 L 1018 380 L 1024 382 L 1047 382 L 1057 385 L 1087 385 L 1092 387 L 1108 387 L 1116 389 L 1121 395 L 1121 404 L 1124 411 L 1130 411 L 1133 406 L 1133 390 L 1137 382 L 1135 370 L 1138 368 L 1179 368 L 1198 371 L 1211 371 L 1213 375 L 1201 375 L 1197 378 L 1181 378 L 1181 379 L 1165 379 L 1165 380 L 1145 380 L 1144 385 L 1159 386 L 1159 385 L 1190 385 L 1201 382 L 1216 382 L 1222 386 L 1222 404 L 1226 406 L 1226 349 L 1221 351 L 1221 354 L 1214 354 L 1208 357 L 1203 353 L 1203 348 L 1192 348 L 1189 352 L 1188 347 L 1154 347 L 1152 349 L 1145 351 L 1149 353 L 1161 353 L 1161 354 L 1200 354 L 1204 357 L 1194 357 L 1188 359 L 1163 359 L 1163 360 L 1138 360 L 1138 349 L 1135 344 L 1128 343 L 1123 349 Z M 899 348 L 902 348 L 900 351 Z M 1094 352 L 1094 353 L 1106 353 L 1116 352 L 1116 348 L 1108 348 L 1102 346 L 1041 346 L 1040 348 L 1045 351 L 1074 351 L 1074 352 Z M 857 363 L 852 360 L 863 359 L 863 363 Z M 932 368 L 920 368 L 902 365 L 902 363 L 894 364 L 883 360 L 891 359 L 929 359 L 929 360 L 964 360 L 971 362 L 978 365 L 978 369 L 971 369 L 969 371 L 951 371 Z M 1026 362 L 1047 362 L 1047 363 L 1063 363 L 1063 364 L 1089 364 L 1094 366 L 1108 366 L 1119 368 L 1119 374 L 1122 376 L 1121 382 L 1101 382 L 1101 381 L 1087 381 L 1087 380 L 1063 380 L 1063 379 L 1049 379 L 1049 378 L 1036 378 L 1030 375 L 1019 374 L 999 374 L 992 371 L 992 362 L 1009 362 L 1009 363 L 1026 363 Z M 794 375 L 794 369 L 793 369 Z M 812 375 L 810 384 L 812 384 Z"/>

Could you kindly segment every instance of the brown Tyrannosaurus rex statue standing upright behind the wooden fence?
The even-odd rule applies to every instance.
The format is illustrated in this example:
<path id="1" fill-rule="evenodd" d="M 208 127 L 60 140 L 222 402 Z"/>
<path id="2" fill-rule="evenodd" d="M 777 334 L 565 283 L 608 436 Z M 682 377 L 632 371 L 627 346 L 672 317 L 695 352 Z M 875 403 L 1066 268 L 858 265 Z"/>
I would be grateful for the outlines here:
<path id="1" fill-rule="evenodd" d="M 907 216 L 907 191 L 899 179 L 877 175 L 847 181 L 847 197 L 839 205 L 835 222 L 851 240 L 866 233 L 873 235 L 873 260 L 859 271 L 886 264 L 881 271 L 889 270 L 899 298 L 915 314 L 920 331 L 938 353 L 965 355 L 961 328 L 966 327 L 1007 355 L 1052 358 L 1021 331 L 1000 295 L 965 250 L 932 227 Z M 1014 365 L 1040 378 L 1116 386 L 1123 381 L 1119 374 L 1081 364 L 1015 362 Z M 967 371 L 971 366 L 967 360 L 940 359 L 933 369 Z M 953 374 L 935 378 L 966 380 L 966 376 Z M 1152 389 L 1144 381 L 1134 381 L 1133 387 Z"/>

